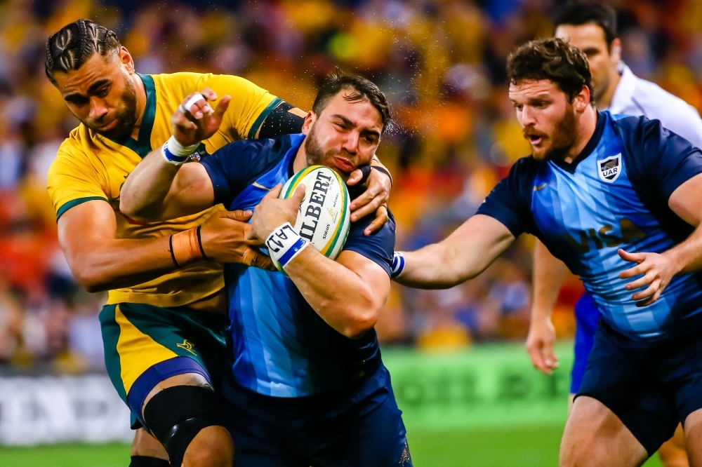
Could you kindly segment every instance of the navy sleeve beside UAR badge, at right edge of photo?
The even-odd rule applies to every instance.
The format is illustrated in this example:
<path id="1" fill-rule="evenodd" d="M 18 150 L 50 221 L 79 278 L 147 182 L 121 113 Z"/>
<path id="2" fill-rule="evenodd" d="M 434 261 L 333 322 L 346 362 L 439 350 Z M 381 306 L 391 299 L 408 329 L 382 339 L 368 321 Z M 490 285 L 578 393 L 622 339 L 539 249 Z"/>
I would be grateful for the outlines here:
<path id="1" fill-rule="evenodd" d="M 660 121 L 628 117 L 618 122 L 625 128 L 621 136 L 637 177 L 647 180 L 666 203 L 677 187 L 702 173 L 702 151 Z"/>

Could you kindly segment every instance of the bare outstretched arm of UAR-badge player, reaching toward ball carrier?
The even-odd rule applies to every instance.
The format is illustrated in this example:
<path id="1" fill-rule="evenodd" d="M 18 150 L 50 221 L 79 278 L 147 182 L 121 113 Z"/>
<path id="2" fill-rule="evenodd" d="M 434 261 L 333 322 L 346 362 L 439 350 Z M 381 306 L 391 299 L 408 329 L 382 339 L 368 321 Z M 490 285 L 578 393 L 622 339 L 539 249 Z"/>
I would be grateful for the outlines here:
<path id="1" fill-rule="evenodd" d="M 420 289 L 447 289 L 482 273 L 513 241 L 504 224 L 477 214 L 441 242 L 403 252 L 404 270 L 395 280 Z"/>

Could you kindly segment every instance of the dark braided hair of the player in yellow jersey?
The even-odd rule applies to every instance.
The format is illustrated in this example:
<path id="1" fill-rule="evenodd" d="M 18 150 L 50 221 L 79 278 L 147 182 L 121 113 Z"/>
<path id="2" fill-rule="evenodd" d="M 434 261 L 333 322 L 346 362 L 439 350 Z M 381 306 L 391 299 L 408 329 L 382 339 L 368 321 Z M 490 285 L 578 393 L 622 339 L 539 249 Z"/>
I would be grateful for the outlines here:
<path id="1" fill-rule="evenodd" d="M 55 83 L 54 73 L 77 70 L 95 52 L 103 57 L 110 50 L 120 47 L 117 34 L 91 20 L 77 20 L 65 25 L 46 40 L 44 71 Z"/>

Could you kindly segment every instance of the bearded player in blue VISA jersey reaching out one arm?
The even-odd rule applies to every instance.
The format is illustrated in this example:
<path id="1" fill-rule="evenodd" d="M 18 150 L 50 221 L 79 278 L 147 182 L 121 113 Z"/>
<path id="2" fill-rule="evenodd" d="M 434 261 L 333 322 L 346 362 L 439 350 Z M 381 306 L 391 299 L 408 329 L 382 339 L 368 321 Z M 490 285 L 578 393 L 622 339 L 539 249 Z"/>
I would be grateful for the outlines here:
<path id="1" fill-rule="evenodd" d="M 508 58 L 532 155 L 453 234 L 397 254 L 405 285 L 453 287 L 534 234 L 602 319 L 561 466 L 640 466 L 682 422 L 702 465 L 702 153 L 657 120 L 598 112 L 587 57 L 560 39 Z"/>

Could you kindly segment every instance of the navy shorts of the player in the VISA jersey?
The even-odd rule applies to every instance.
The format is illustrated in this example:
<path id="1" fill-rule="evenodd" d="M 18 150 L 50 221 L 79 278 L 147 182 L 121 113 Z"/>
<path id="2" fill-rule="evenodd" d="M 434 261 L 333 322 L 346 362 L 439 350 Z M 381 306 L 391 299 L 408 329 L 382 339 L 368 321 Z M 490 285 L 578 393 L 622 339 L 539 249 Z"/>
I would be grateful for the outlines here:
<path id="1" fill-rule="evenodd" d="M 600 320 L 576 397 L 602 402 L 654 454 L 702 408 L 702 331 L 634 341 Z"/>

